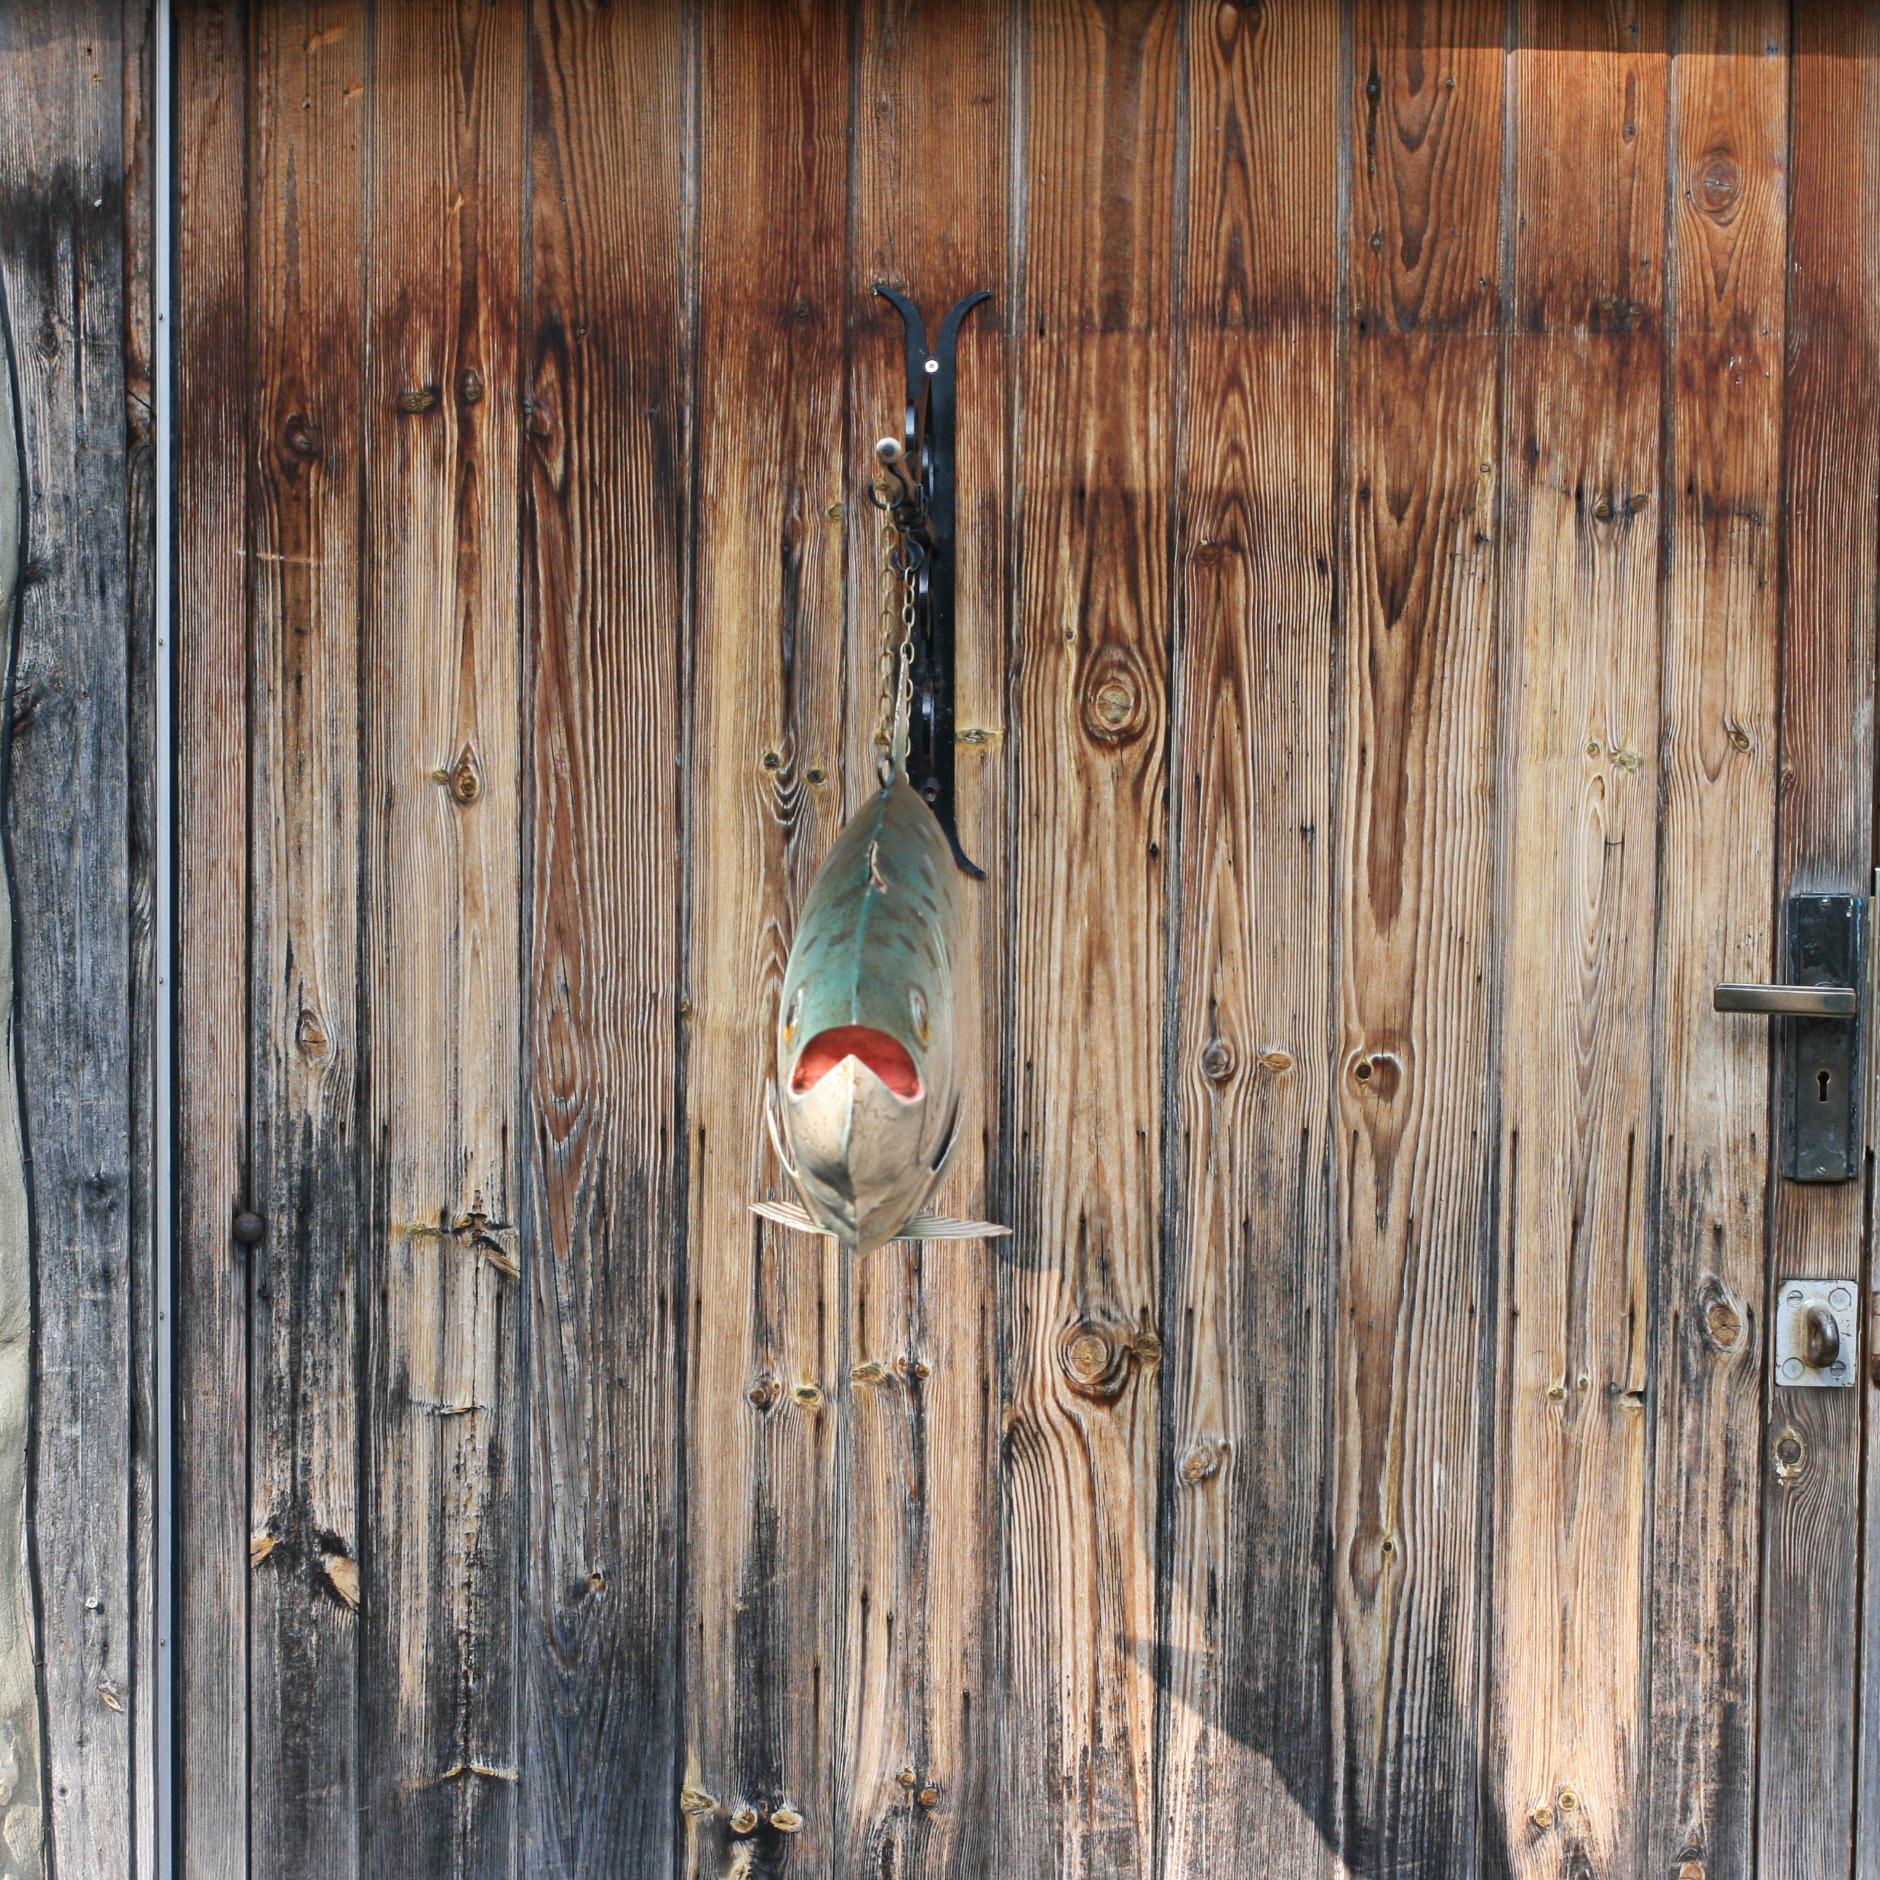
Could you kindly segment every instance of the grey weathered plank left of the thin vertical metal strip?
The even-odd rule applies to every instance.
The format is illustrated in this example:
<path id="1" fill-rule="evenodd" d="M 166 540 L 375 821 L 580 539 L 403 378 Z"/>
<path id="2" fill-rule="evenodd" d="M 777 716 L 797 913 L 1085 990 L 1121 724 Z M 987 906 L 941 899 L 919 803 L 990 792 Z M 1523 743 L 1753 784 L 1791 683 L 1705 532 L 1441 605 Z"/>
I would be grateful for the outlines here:
<path id="1" fill-rule="evenodd" d="M 28 530 L 6 803 L 45 1722 L 43 1769 L 26 1778 L 45 1784 L 53 1865 L 85 1876 L 130 1856 L 135 1701 L 122 11 L 9 8 L 0 70 Z M 36 1839 L 23 1822 L 28 1863 Z"/>

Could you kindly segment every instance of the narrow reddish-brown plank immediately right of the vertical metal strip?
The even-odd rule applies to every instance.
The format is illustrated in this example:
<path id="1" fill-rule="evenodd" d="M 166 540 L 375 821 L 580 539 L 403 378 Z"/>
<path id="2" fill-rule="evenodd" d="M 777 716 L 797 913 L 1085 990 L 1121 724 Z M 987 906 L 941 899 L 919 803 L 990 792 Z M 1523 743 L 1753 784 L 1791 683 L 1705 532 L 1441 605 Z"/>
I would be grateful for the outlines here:
<path id="1" fill-rule="evenodd" d="M 175 1812 L 177 1863 L 248 1874 L 248 34 L 175 19 Z M 231 754 L 235 760 L 231 761 Z"/>

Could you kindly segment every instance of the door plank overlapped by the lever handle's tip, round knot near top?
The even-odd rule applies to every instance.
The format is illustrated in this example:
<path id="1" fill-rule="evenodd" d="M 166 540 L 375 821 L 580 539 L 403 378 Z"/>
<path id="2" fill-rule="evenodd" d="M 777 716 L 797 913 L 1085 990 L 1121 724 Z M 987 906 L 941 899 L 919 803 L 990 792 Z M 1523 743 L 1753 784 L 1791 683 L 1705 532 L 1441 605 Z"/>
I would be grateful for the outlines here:
<path id="1" fill-rule="evenodd" d="M 1671 77 L 1645 1871 L 1707 1880 L 1756 1871 L 1769 1028 L 1711 985 L 1775 972 L 1786 19 L 1690 0 Z"/>

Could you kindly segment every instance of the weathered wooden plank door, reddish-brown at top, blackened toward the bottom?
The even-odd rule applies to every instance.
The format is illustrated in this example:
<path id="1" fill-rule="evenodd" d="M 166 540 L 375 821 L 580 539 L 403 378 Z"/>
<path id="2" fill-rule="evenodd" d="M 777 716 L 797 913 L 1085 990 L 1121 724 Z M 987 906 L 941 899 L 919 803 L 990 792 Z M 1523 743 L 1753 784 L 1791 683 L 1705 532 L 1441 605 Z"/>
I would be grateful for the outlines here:
<path id="1" fill-rule="evenodd" d="M 1769 1363 L 1871 1183 L 1711 1010 L 1874 867 L 1880 21 L 190 0 L 177 98 L 180 1871 L 1880 1880 L 1880 1371 Z M 848 1261 L 748 1201 L 878 280 L 995 293 L 1015 1231 Z"/>

